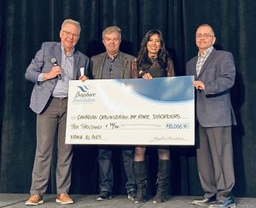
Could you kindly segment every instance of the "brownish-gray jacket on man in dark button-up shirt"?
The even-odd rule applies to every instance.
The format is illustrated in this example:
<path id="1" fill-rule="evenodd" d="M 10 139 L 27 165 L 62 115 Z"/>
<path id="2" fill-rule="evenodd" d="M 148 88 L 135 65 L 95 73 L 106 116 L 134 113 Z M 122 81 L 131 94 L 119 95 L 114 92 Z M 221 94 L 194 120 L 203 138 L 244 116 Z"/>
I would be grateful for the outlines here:
<path id="1" fill-rule="evenodd" d="M 104 61 L 107 57 L 107 53 L 104 52 L 100 55 L 92 56 L 90 59 L 90 70 L 93 79 L 102 78 L 102 69 Z M 132 55 L 127 55 L 120 52 L 120 62 L 121 62 L 121 77 L 120 78 L 131 78 L 131 65 L 135 57 Z"/>

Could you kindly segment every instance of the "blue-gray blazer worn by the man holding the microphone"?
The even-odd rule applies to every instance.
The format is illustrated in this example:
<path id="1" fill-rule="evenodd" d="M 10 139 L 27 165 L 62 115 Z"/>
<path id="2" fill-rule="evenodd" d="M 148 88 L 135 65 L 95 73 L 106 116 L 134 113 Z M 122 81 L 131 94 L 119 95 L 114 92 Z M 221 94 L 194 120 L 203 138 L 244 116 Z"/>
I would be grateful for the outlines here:
<path id="1" fill-rule="evenodd" d="M 73 78 L 78 79 L 80 76 L 79 69 L 84 67 L 84 74 L 86 74 L 88 72 L 90 61 L 86 55 L 78 50 L 74 50 L 73 55 Z M 58 78 L 56 77 L 41 83 L 38 82 L 38 75 L 40 73 L 49 72 L 52 68 L 53 64 L 50 61 L 51 58 L 56 58 L 57 63 L 61 63 L 61 43 L 43 43 L 31 64 L 26 68 L 25 78 L 35 84 L 30 102 L 30 107 L 35 113 L 41 113 L 44 110 L 44 107 L 49 101 L 49 97 L 55 88 L 55 84 L 58 81 Z"/>

